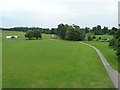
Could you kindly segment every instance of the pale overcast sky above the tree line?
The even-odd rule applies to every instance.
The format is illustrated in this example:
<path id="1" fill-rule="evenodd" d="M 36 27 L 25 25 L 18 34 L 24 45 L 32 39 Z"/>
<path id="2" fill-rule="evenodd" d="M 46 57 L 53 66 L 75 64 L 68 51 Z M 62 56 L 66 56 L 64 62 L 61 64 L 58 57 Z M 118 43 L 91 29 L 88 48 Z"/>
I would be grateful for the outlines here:
<path id="1" fill-rule="evenodd" d="M 0 0 L 0 27 L 118 25 L 119 0 Z"/>

